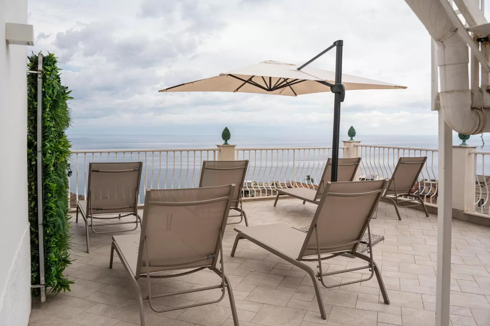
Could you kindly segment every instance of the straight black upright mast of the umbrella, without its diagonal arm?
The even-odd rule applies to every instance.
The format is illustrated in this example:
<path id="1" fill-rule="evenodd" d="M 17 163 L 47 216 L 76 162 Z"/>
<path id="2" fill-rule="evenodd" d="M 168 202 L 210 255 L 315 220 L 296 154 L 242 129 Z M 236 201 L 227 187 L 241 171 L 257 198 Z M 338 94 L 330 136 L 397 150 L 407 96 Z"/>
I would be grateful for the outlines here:
<path id="1" fill-rule="evenodd" d="M 343 41 L 336 42 L 336 57 L 335 57 L 335 84 L 342 83 L 342 48 Z M 332 182 L 337 181 L 337 170 L 339 164 L 339 141 L 340 141 L 340 105 L 341 105 L 341 93 L 335 93 L 334 99 L 334 130 L 332 137 L 332 176 L 330 180 Z"/>

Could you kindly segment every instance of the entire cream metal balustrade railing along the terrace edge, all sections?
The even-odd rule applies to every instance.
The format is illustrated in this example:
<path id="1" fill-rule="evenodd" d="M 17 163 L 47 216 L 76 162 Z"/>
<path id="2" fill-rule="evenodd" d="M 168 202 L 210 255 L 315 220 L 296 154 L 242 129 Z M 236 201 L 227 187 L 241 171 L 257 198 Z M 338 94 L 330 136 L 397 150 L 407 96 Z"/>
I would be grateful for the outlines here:
<path id="1" fill-rule="evenodd" d="M 399 157 L 428 156 L 418 180 L 418 189 L 425 201 L 437 203 L 437 150 L 377 145 L 356 146 L 358 155 L 362 157 L 359 171 L 361 180 L 390 178 Z M 345 147 L 340 148 L 340 157 L 343 157 L 344 149 Z M 79 195 L 85 196 L 87 193 L 90 162 L 142 161 L 142 203 L 147 188 L 197 187 L 202 161 L 216 160 L 218 151 L 217 148 L 73 151 L 73 173 L 69 180 L 71 192 L 76 196 L 76 201 Z M 281 188 L 316 189 L 331 154 L 331 147 L 236 149 L 236 160 L 249 160 L 243 185 L 244 197 L 273 196 L 277 189 Z M 490 158 L 488 162 L 490 163 Z M 488 171 L 490 172 L 490 168 Z M 488 195 L 485 198 L 487 203 Z"/>

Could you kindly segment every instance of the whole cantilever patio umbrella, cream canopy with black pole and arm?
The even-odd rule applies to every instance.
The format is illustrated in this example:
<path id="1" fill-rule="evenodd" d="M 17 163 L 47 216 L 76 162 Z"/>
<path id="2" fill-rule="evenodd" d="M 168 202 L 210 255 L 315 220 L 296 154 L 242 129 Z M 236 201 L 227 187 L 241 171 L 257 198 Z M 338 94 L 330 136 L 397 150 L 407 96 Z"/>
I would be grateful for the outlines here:
<path id="1" fill-rule="evenodd" d="M 306 65 L 309 65 L 334 47 L 337 47 L 335 72 L 306 67 Z M 328 91 L 335 93 L 331 180 L 337 181 L 340 104 L 343 102 L 345 90 L 407 88 L 405 86 L 342 74 L 342 47 L 343 41 L 336 41 L 313 59 L 299 67 L 294 64 L 285 64 L 277 61 L 263 61 L 256 65 L 248 65 L 230 72 L 220 73 L 219 76 L 180 84 L 159 91 L 243 92 L 285 96 Z"/>

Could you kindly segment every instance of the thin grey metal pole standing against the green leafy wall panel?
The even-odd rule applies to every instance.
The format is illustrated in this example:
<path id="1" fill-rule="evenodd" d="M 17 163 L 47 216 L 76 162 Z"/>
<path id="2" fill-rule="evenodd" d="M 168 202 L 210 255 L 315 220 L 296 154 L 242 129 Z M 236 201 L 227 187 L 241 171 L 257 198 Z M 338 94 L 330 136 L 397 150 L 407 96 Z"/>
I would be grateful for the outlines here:
<path id="1" fill-rule="evenodd" d="M 41 302 L 46 302 L 44 275 L 44 230 L 43 230 L 43 54 L 37 59 L 37 220 L 39 233 L 39 280 Z"/>

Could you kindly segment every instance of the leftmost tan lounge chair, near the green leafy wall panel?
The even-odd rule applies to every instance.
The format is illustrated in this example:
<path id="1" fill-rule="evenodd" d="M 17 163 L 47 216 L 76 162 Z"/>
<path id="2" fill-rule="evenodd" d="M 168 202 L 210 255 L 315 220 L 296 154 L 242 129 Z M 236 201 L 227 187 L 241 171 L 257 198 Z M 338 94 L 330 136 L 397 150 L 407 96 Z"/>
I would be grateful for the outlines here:
<path id="1" fill-rule="evenodd" d="M 141 224 L 138 216 L 138 192 L 140 190 L 142 162 L 90 163 L 86 200 L 79 200 L 78 212 L 85 221 L 87 252 L 89 252 L 89 226 L 94 233 L 116 233 L 134 231 Z M 101 223 L 94 225 L 94 219 L 115 219 L 134 216 L 134 221 Z M 88 219 L 90 218 L 90 224 Z M 99 226 L 136 223 L 134 229 L 119 231 L 100 231 Z"/>

